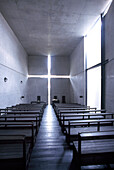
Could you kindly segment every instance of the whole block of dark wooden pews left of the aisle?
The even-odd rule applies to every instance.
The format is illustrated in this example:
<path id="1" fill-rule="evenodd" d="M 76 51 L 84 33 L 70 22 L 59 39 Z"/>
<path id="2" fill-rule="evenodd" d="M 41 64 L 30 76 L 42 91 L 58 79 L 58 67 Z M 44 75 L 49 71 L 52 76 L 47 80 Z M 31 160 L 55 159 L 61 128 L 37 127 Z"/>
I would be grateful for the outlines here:
<path id="1" fill-rule="evenodd" d="M 0 169 L 27 170 L 45 103 L 0 109 Z"/>

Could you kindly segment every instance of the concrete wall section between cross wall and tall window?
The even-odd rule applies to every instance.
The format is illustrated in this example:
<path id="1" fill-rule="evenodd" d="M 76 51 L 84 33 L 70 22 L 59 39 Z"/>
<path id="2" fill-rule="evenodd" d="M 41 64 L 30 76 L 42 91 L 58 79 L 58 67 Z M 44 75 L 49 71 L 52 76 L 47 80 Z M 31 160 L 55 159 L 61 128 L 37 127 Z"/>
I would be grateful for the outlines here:
<path id="1" fill-rule="evenodd" d="M 84 104 L 84 39 L 70 56 L 70 76 L 70 102 Z"/>

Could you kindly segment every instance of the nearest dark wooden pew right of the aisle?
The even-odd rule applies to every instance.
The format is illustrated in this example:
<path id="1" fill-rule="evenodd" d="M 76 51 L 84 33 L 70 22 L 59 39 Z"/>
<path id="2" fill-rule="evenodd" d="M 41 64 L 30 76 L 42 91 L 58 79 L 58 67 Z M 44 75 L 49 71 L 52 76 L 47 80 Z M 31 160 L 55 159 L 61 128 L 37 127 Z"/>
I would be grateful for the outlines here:
<path id="1" fill-rule="evenodd" d="M 114 164 L 114 131 L 79 133 L 73 142 L 76 168 L 84 165 Z"/>

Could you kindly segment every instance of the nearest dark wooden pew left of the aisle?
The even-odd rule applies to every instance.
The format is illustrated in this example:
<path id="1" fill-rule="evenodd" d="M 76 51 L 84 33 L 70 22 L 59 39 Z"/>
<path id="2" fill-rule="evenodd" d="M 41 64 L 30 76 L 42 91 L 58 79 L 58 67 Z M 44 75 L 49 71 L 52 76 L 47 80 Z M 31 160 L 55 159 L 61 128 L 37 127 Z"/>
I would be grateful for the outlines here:
<path id="1" fill-rule="evenodd" d="M 26 170 L 30 145 L 23 135 L 0 135 L 0 169 Z"/>

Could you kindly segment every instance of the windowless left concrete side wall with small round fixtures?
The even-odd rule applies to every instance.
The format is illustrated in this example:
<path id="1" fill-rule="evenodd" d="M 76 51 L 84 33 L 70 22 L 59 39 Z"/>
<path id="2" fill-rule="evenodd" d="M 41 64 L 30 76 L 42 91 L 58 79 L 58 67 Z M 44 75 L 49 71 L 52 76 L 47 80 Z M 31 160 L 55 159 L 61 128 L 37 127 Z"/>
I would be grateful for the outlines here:
<path id="1" fill-rule="evenodd" d="M 25 50 L 0 13 L 0 108 L 27 102 L 27 63 Z"/>

